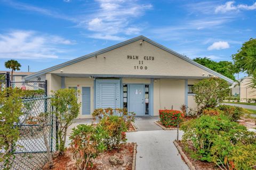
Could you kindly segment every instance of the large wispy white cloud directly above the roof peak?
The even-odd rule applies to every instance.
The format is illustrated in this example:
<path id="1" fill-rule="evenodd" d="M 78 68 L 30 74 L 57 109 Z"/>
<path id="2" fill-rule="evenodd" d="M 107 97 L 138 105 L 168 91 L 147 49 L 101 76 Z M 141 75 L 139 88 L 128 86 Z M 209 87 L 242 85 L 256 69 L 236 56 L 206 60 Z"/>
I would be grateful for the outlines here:
<path id="1" fill-rule="evenodd" d="M 131 0 L 97 0 L 99 9 L 95 10 L 89 20 L 82 19 L 78 27 L 92 31 L 89 37 L 98 39 L 120 40 L 119 35 L 138 35 L 142 30 L 135 27 L 134 18 L 143 15 L 151 4 L 138 4 Z"/>

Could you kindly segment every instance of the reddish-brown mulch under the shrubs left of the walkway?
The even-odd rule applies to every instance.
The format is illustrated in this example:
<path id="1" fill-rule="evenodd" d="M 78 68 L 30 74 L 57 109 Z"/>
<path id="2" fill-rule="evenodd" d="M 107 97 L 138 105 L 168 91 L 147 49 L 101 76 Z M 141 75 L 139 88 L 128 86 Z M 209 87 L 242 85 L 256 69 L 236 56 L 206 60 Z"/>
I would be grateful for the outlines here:
<path id="1" fill-rule="evenodd" d="M 88 170 L 132 170 L 133 164 L 133 150 L 134 143 L 127 143 L 121 147 L 119 152 L 117 149 L 108 150 L 101 153 L 97 158 L 93 159 L 93 167 L 88 167 Z M 124 160 L 124 164 L 122 165 L 111 165 L 109 162 L 109 158 L 111 156 L 117 156 L 118 158 L 122 158 Z M 76 170 L 76 162 L 73 159 L 73 154 L 70 149 L 65 151 L 65 155 L 57 156 L 53 159 L 53 170 Z M 49 165 L 46 164 L 43 170 L 49 169 Z"/>

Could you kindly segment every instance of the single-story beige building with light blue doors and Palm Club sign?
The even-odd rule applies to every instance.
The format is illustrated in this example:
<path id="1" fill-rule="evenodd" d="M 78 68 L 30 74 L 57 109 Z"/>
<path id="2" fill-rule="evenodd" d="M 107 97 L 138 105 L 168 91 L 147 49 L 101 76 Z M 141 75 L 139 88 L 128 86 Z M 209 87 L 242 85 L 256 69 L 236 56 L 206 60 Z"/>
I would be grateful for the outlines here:
<path id="1" fill-rule="evenodd" d="M 81 91 L 78 118 L 94 108 L 123 108 L 137 115 L 158 115 L 159 109 L 196 107 L 191 86 L 207 77 L 229 78 L 202 66 L 144 36 L 28 75 L 47 80 L 47 91 Z"/>

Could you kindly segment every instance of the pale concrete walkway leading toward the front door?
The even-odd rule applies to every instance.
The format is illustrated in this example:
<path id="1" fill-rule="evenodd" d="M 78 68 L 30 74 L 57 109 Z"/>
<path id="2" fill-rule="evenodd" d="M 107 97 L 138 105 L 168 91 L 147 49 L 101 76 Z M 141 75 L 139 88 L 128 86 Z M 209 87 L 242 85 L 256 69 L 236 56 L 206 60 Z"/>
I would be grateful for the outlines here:
<path id="1" fill-rule="evenodd" d="M 173 144 L 177 131 L 139 131 L 126 135 L 128 142 L 138 144 L 136 170 L 189 169 Z"/>

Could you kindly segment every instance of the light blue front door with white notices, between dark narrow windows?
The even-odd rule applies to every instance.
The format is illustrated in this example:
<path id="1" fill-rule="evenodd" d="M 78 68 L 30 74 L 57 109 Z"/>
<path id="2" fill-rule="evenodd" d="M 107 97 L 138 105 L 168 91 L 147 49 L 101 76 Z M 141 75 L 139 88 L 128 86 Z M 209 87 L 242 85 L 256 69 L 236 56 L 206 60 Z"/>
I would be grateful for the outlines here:
<path id="1" fill-rule="evenodd" d="M 129 112 L 135 112 L 137 116 L 145 115 L 145 91 L 144 84 L 129 85 Z"/>

